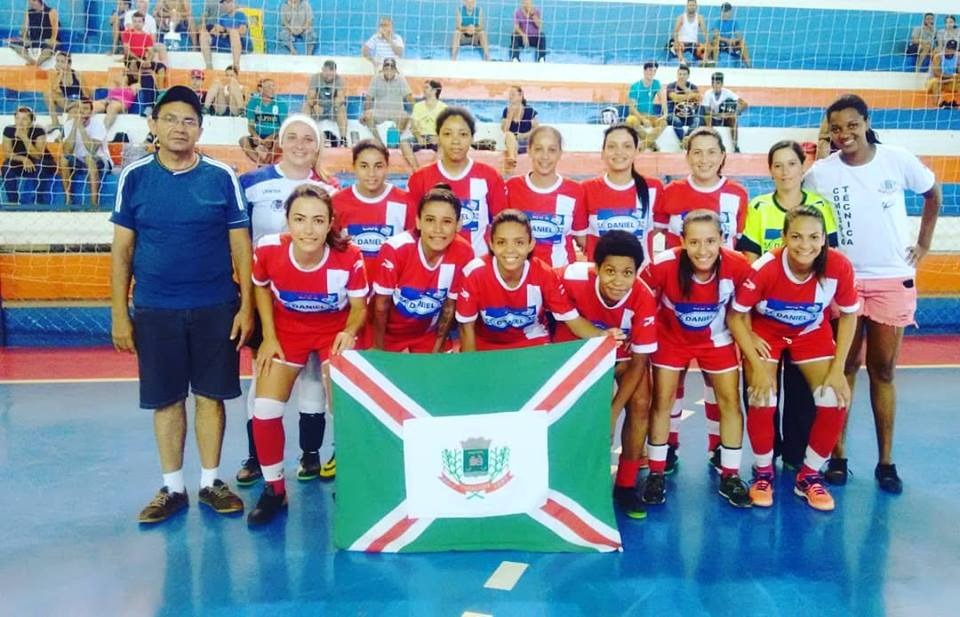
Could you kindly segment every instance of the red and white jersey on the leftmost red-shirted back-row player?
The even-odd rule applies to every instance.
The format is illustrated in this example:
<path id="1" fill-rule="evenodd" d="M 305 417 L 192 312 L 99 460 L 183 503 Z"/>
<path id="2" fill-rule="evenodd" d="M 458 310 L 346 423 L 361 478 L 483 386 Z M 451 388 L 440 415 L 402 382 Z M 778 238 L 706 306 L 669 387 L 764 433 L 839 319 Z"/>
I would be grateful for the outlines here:
<path id="1" fill-rule="evenodd" d="M 337 226 L 357 245 L 367 265 L 367 278 L 376 280 L 380 247 L 389 238 L 413 229 L 416 208 L 403 189 L 387 183 L 376 197 L 364 197 L 354 185 L 333 196 Z"/>

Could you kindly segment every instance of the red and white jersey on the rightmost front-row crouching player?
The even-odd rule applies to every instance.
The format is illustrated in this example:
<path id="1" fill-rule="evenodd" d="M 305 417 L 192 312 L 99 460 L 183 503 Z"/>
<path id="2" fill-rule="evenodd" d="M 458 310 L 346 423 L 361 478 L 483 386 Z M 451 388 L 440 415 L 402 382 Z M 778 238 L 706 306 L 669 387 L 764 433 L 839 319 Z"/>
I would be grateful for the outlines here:
<path id="1" fill-rule="evenodd" d="M 737 288 L 734 310 L 753 309 L 753 330 L 763 338 L 797 337 L 820 328 L 830 328 L 824 312 L 836 301 L 843 313 L 856 313 L 860 298 L 854 287 L 853 265 L 846 256 L 831 248 L 822 277 L 811 274 L 799 280 L 787 265 L 787 252 L 781 247 L 753 262 L 750 276 Z"/>

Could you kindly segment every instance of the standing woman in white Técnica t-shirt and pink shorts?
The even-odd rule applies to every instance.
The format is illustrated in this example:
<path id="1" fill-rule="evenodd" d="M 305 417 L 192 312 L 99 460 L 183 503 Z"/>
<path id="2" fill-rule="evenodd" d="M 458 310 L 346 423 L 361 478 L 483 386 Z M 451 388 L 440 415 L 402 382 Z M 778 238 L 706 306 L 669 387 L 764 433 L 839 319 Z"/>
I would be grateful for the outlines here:
<path id="1" fill-rule="evenodd" d="M 877 428 L 879 461 L 874 470 L 880 488 L 899 493 L 903 484 L 893 464 L 893 422 L 896 410 L 894 368 L 903 329 L 914 324 L 916 265 L 930 250 L 940 212 L 937 180 L 916 156 L 903 148 L 880 144 L 867 104 L 847 94 L 830 105 L 826 129 L 837 151 L 814 163 L 804 184 L 831 199 L 837 215 L 840 250 L 853 263 L 862 313 L 850 348 L 846 374 L 851 388 L 866 342 L 870 399 Z M 916 240 L 911 238 L 905 191 L 923 195 L 923 215 Z M 848 416 L 849 418 L 849 416 Z M 827 463 L 831 484 L 847 481 L 844 435 Z"/>

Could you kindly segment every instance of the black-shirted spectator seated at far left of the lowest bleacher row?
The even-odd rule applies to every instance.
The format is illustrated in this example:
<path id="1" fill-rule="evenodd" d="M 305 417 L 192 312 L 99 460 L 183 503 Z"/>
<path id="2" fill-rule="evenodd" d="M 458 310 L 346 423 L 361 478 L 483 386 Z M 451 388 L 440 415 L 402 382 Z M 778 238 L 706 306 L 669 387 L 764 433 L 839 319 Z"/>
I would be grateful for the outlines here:
<path id="1" fill-rule="evenodd" d="M 46 131 L 34 121 L 33 110 L 21 106 L 13 116 L 13 125 L 3 129 L 3 190 L 7 203 L 33 203 L 34 195 L 20 193 L 23 179 L 37 183 L 37 203 L 50 203 L 57 162 L 47 152 Z"/>

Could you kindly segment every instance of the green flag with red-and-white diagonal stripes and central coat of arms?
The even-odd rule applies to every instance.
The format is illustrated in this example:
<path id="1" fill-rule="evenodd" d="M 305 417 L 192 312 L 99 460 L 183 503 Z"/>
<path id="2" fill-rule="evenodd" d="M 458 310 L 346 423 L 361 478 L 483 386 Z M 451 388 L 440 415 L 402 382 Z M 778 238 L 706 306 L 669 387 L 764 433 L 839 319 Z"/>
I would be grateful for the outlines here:
<path id="1" fill-rule="evenodd" d="M 333 359 L 334 544 L 357 551 L 620 549 L 611 338 Z"/>

